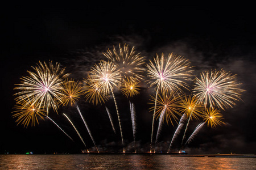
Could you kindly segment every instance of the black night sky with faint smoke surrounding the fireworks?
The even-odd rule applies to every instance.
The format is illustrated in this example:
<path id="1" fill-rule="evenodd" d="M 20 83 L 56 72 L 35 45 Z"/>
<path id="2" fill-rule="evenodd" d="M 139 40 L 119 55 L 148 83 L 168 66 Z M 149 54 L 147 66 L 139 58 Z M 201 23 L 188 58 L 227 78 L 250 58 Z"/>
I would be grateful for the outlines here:
<path id="1" fill-rule="evenodd" d="M 255 101 L 256 101 L 256 43 L 255 12 L 250 6 L 172 6 L 156 2 L 115 4 L 89 2 L 69 3 L 5 3 L 1 7 L 1 91 L 0 154 L 10 153 L 79 153 L 84 149 L 79 137 L 62 113 L 67 113 L 85 143 L 93 150 L 75 107 L 61 107 L 59 114 L 49 116 L 63 128 L 72 142 L 49 120 L 40 120 L 35 127 L 16 126 L 11 117 L 15 105 L 14 84 L 26 76 L 31 66 L 39 61 L 59 62 L 82 80 L 86 71 L 106 49 L 119 43 L 135 46 L 142 56 L 152 59 L 156 53 L 175 53 L 189 59 L 196 74 L 210 69 L 221 69 L 237 74 L 238 82 L 246 92 L 234 108 L 222 111 L 226 125 L 214 129 L 204 128 L 185 150 L 189 154 L 215 154 L 236 152 L 255 154 Z M 151 135 L 151 117 L 148 113 L 149 95 L 145 85 L 141 95 L 133 101 L 137 111 L 137 140 L 142 151 L 148 151 Z M 133 146 L 133 133 L 129 115 L 129 100 L 117 92 L 122 113 L 123 134 L 127 149 Z M 98 148 L 104 151 L 122 149 L 119 131 L 115 135 L 108 121 L 105 105 L 97 107 L 79 105 Z M 118 129 L 114 103 L 110 109 Z M 200 121 L 193 121 L 189 133 Z M 159 150 L 166 151 L 176 125 L 164 125 Z M 176 144 L 178 145 L 179 142 Z M 118 147 L 117 147 L 118 146 Z M 166 148 L 167 147 L 167 148 Z M 132 151 L 133 148 L 131 148 Z"/>

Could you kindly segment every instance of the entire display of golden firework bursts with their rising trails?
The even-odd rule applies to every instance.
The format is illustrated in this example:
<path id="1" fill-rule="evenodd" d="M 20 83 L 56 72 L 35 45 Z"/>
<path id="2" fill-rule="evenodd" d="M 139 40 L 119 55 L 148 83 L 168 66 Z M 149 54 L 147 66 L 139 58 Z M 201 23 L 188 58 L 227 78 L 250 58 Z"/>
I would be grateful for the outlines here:
<path id="1" fill-rule="evenodd" d="M 102 52 L 102 55 L 105 59 L 95 63 L 83 80 L 69 78 L 71 74 L 65 73 L 65 68 L 52 61 L 48 63 L 39 61 L 37 66 L 32 66 L 32 71 L 27 71 L 28 75 L 22 76 L 20 83 L 15 84 L 14 90 L 18 92 L 14 94 L 16 105 L 13 117 L 17 125 L 27 128 L 39 124 L 39 120 L 48 118 L 73 141 L 60 125 L 50 118 L 50 115 L 57 113 L 60 107 L 75 106 L 94 147 L 97 152 L 101 152 L 97 148 L 97 142 L 94 141 L 93 135 L 96 134 L 91 133 L 90 127 L 86 124 L 87 120 L 82 116 L 83 112 L 77 105 L 77 101 L 85 98 L 84 101 L 92 105 L 104 105 L 106 112 L 102 114 L 108 115 L 109 121 L 106 126 L 110 126 L 113 133 L 121 139 L 122 152 L 125 153 L 127 146 L 123 139 L 125 127 L 119 110 L 120 103 L 115 97 L 115 93 L 120 92 L 123 97 L 129 99 L 130 108 L 127 110 L 130 111 L 131 132 L 134 153 L 136 153 L 138 152 L 137 130 L 140 127 L 136 122 L 136 117 L 140 114 L 136 112 L 136 108 L 140 106 L 133 101 L 133 97 L 140 95 L 143 85 L 148 87 L 147 91 L 151 94 L 151 99 L 148 101 L 151 107 L 145 108 L 152 118 L 151 139 L 148 139 L 150 147 L 147 152 L 171 152 L 178 135 L 181 135 L 182 141 L 177 147 L 183 150 L 204 125 L 210 128 L 222 126 L 224 124 L 222 114 L 225 113 L 225 109 L 236 105 L 244 91 L 236 75 L 225 69 L 206 70 L 196 77 L 193 75 L 195 70 L 191 62 L 173 53 L 167 56 L 156 54 L 152 61 L 150 59 L 147 61 L 146 57 L 135 51 L 134 46 L 130 50 L 129 45 L 119 44 L 118 49 L 113 46 L 113 49 Z M 111 105 L 108 100 L 114 101 L 115 111 L 109 110 Z M 115 124 L 113 114 L 116 114 L 118 124 Z M 72 115 L 67 116 L 63 113 L 59 116 L 67 118 L 84 144 L 85 148 L 81 149 L 89 152 L 85 144 L 88 139 L 82 138 L 75 126 L 76 122 L 72 122 Z M 199 121 L 199 124 L 187 137 L 187 129 L 193 120 Z M 156 151 L 155 147 L 158 145 L 163 124 L 174 127 L 177 125 L 177 128 L 170 132 L 170 134 L 174 133 L 170 139 L 170 147 L 166 151 Z"/>

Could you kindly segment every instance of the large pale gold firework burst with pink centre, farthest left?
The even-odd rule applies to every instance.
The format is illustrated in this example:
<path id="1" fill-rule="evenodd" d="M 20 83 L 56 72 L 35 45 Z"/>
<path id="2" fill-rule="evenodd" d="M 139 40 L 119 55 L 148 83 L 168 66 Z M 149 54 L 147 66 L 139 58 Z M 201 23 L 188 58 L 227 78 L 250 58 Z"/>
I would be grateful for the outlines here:
<path id="1" fill-rule="evenodd" d="M 14 89 L 20 90 L 16 93 L 18 95 L 16 100 L 27 100 L 33 98 L 35 103 L 39 103 L 43 108 L 46 108 L 48 115 L 49 108 L 53 108 L 57 112 L 56 101 L 63 103 L 62 79 L 66 78 L 69 74 L 64 74 L 65 69 L 61 69 L 59 63 L 53 65 L 49 62 L 39 62 L 39 65 L 32 67 L 35 71 L 27 71 L 30 75 L 22 77 L 22 82 Z"/>

